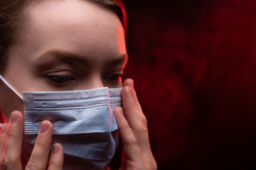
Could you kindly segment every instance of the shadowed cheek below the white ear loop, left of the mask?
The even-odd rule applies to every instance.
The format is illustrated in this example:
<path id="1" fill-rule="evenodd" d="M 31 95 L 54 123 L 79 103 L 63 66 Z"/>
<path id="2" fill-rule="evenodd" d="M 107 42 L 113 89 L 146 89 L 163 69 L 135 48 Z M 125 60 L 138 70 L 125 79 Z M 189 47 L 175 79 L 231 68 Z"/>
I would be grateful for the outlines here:
<path id="1" fill-rule="evenodd" d="M 13 111 L 21 111 L 23 113 L 23 101 L 14 91 L 4 84 L 0 79 L 0 109 L 1 123 L 9 122 L 9 118 Z M 1 118 L 2 117 L 2 118 Z"/>

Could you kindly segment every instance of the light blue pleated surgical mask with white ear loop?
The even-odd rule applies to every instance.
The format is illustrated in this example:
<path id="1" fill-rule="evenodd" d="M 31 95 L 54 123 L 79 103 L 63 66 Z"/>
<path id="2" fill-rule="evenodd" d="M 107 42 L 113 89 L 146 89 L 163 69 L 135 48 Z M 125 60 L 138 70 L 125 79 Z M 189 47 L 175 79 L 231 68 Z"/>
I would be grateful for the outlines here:
<path id="1" fill-rule="evenodd" d="M 64 149 L 63 169 L 107 169 L 117 148 L 119 132 L 114 108 L 121 106 L 121 90 L 23 92 L 0 75 L 23 99 L 23 156 L 30 157 L 42 120 L 53 123 L 53 140 Z"/>

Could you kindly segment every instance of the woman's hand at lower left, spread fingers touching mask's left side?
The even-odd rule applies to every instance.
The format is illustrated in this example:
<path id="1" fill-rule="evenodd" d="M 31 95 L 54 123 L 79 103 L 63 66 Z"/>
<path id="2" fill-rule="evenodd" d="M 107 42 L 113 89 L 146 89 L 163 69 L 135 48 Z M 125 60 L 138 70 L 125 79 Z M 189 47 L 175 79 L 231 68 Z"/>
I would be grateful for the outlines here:
<path id="1" fill-rule="evenodd" d="M 50 152 L 50 142 L 53 134 L 53 125 L 48 120 L 41 123 L 36 144 L 26 165 L 26 170 L 63 169 L 63 147 L 53 145 Z M 1 125 L 0 155 L 1 169 L 21 170 L 21 145 L 23 136 L 23 114 L 19 111 L 11 113 L 9 123 Z M 49 158 L 48 158 L 49 157 Z"/>

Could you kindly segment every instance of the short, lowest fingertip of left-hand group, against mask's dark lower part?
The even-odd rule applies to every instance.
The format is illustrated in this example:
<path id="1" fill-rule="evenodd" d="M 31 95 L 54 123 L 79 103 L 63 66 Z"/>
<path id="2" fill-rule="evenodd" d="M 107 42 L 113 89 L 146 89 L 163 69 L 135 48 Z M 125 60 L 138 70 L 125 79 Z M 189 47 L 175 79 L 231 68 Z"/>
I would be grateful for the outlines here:
<path id="1" fill-rule="evenodd" d="M 63 169 L 63 147 L 55 143 L 50 153 L 48 170 L 62 170 Z"/>

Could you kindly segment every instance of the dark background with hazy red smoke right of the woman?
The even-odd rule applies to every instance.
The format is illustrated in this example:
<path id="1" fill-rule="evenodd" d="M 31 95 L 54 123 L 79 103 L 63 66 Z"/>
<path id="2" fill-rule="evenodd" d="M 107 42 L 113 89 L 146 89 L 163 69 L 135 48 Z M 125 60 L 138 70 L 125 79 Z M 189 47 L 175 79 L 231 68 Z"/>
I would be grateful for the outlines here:
<path id="1" fill-rule="evenodd" d="M 256 166 L 256 1 L 124 0 L 159 169 Z"/>

